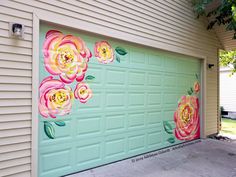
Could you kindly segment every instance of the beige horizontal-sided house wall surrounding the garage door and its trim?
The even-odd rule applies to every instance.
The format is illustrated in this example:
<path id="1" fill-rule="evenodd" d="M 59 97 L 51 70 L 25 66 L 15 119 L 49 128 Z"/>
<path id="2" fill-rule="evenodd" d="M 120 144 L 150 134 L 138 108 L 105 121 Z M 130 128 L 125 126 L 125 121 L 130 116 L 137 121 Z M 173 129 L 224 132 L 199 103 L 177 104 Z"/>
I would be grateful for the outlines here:
<path id="1" fill-rule="evenodd" d="M 90 32 L 207 58 L 205 135 L 218 131 L 218 39 L 186 1 L 4 0 L 0 4 L 0 174 L 31 176 L 33 13 L 62 17 Z M 25 39 L 9 38 L 9 22 L 25 25 Z"/>

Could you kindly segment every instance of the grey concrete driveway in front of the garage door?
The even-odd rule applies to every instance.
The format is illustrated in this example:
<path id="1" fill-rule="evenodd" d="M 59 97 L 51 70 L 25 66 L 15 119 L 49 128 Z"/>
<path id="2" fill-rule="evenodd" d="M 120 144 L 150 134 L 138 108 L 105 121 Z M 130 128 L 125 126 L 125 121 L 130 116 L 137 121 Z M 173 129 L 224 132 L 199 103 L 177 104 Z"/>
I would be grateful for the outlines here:
<path id="1" fill-rule="evenodd" d="M 236 177 L 236 144 L 196 140 L 67 177 Z"/>

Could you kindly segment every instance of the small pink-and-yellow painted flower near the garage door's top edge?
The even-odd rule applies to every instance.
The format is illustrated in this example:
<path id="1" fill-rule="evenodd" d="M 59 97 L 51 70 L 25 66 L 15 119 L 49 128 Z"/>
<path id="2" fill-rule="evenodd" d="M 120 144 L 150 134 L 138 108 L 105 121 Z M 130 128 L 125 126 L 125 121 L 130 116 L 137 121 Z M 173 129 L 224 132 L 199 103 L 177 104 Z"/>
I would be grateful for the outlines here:
<path id="1" fill-rule="evenodd" d="M 107 64 L 114 60 L 113 49 L 107 41 L 96 42 L 94 54 L 100 63 Z"/>

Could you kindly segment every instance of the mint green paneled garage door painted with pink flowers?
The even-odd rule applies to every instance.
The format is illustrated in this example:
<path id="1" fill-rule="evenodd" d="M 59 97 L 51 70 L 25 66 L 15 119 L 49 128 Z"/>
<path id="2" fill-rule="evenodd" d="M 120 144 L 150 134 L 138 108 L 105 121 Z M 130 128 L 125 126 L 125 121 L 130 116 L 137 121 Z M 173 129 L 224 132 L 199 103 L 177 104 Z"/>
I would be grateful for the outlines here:
<path id="1" fill-rule="evenodd" d="M 41 24 L 39 176 L 200 137 L 200 60 Z"/>

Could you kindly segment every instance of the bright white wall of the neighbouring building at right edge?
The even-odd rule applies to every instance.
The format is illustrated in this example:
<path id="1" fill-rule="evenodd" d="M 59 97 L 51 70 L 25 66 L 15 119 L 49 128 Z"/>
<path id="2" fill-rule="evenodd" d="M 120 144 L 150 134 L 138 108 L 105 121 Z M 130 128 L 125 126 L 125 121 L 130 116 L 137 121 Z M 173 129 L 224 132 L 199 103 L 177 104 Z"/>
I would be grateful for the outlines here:
<path id="1" fill-rule="evenodd" d="M 236 75 L 230 77 L 230 73 L 229 68 L 220 70 L 220 106 L 225 111 L 236 112 Z"/>

